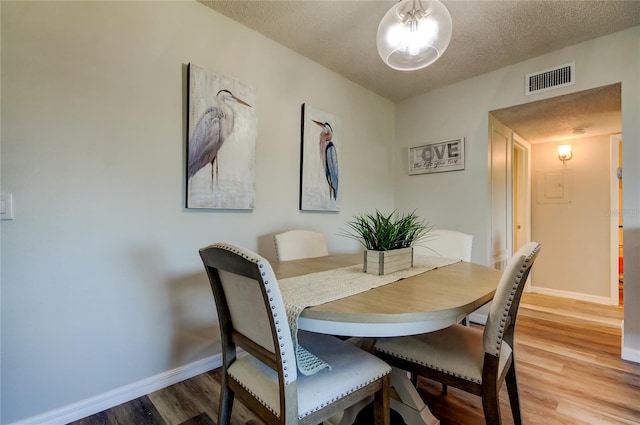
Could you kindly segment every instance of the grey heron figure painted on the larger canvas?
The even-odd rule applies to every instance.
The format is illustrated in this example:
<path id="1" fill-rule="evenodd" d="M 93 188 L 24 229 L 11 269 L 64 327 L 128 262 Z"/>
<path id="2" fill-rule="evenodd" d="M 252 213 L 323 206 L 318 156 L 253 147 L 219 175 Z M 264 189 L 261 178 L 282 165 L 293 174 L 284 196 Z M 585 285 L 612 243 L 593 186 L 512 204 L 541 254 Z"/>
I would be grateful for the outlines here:
<path id="1" fill-rule="evenodd" d="M 211 184 L 218 177 L 218 151 L 233 132 L 235 111 L 232 103 L 251 107 L 229 90 L 220 90 L 216 95 L 217 105 L 209 107 L 200 116 L 189 139 L 188 178 L 191 179 L 207 164 L 211 164 Z"/>

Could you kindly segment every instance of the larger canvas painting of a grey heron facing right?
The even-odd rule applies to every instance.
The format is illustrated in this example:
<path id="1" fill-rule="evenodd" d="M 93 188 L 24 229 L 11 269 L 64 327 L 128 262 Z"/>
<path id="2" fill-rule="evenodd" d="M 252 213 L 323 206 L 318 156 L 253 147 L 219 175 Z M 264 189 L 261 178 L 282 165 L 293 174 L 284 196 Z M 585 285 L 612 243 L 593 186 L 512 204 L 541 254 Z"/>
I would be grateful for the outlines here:
<path id="1" fill-rule="evenodd" d="M 189 64 L 187 208 L 253 209 L 255 89 Z"/>

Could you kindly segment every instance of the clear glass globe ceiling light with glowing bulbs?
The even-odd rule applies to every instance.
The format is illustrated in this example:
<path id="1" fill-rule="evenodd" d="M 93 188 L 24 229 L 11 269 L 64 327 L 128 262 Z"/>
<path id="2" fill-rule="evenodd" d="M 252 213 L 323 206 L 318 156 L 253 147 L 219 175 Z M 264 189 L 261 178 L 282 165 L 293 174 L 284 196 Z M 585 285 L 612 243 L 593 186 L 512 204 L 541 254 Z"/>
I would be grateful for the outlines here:
<path id="1" fill-rule="evenodd" d="M 451 41 L 451 15 L 439 1 L 401 0 L 378 26 L 378 54 L 393 69 L 414 71 L 435 62 Z"/>

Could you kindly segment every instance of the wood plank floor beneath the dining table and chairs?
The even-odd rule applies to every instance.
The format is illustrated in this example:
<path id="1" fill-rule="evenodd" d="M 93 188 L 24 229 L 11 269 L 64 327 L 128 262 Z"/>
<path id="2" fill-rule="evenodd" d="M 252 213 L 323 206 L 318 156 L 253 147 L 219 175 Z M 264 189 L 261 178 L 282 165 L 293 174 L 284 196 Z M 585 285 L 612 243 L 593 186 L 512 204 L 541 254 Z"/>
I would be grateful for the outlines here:
<path id="1" fill-rule="evenodd" d="M 640 424 L 640 365 L 620 359 L 621 307 L 525 294 L 516 327 L 522 415 L 526 425 Z M 72 425 L 212 425 L 220 375 L 214 370 Z M 482 425 L 478 397 L 422 379 L 419 392 L 442 425 Z M 513 425 L 506 388 L 503 424 Z M 371 424 L 364 412 L 358 425 Z M 392 423 L 402 424 L 397 416 Z M 240 403 L 234 425 L 262 425 Z"/>

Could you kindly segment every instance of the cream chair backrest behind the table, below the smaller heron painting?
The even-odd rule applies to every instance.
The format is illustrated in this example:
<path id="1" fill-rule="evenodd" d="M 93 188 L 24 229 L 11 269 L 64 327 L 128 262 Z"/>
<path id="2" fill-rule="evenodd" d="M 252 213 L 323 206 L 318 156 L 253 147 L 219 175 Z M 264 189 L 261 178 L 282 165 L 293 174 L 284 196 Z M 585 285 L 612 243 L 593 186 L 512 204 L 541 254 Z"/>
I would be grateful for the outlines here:
<path id="1" fill-rule="evenodd" d="M 273 239 L 280 261 L 329 255 L 327 242 L 322 233 L 311 230 L 289 230 L 275 235 Z"/>

